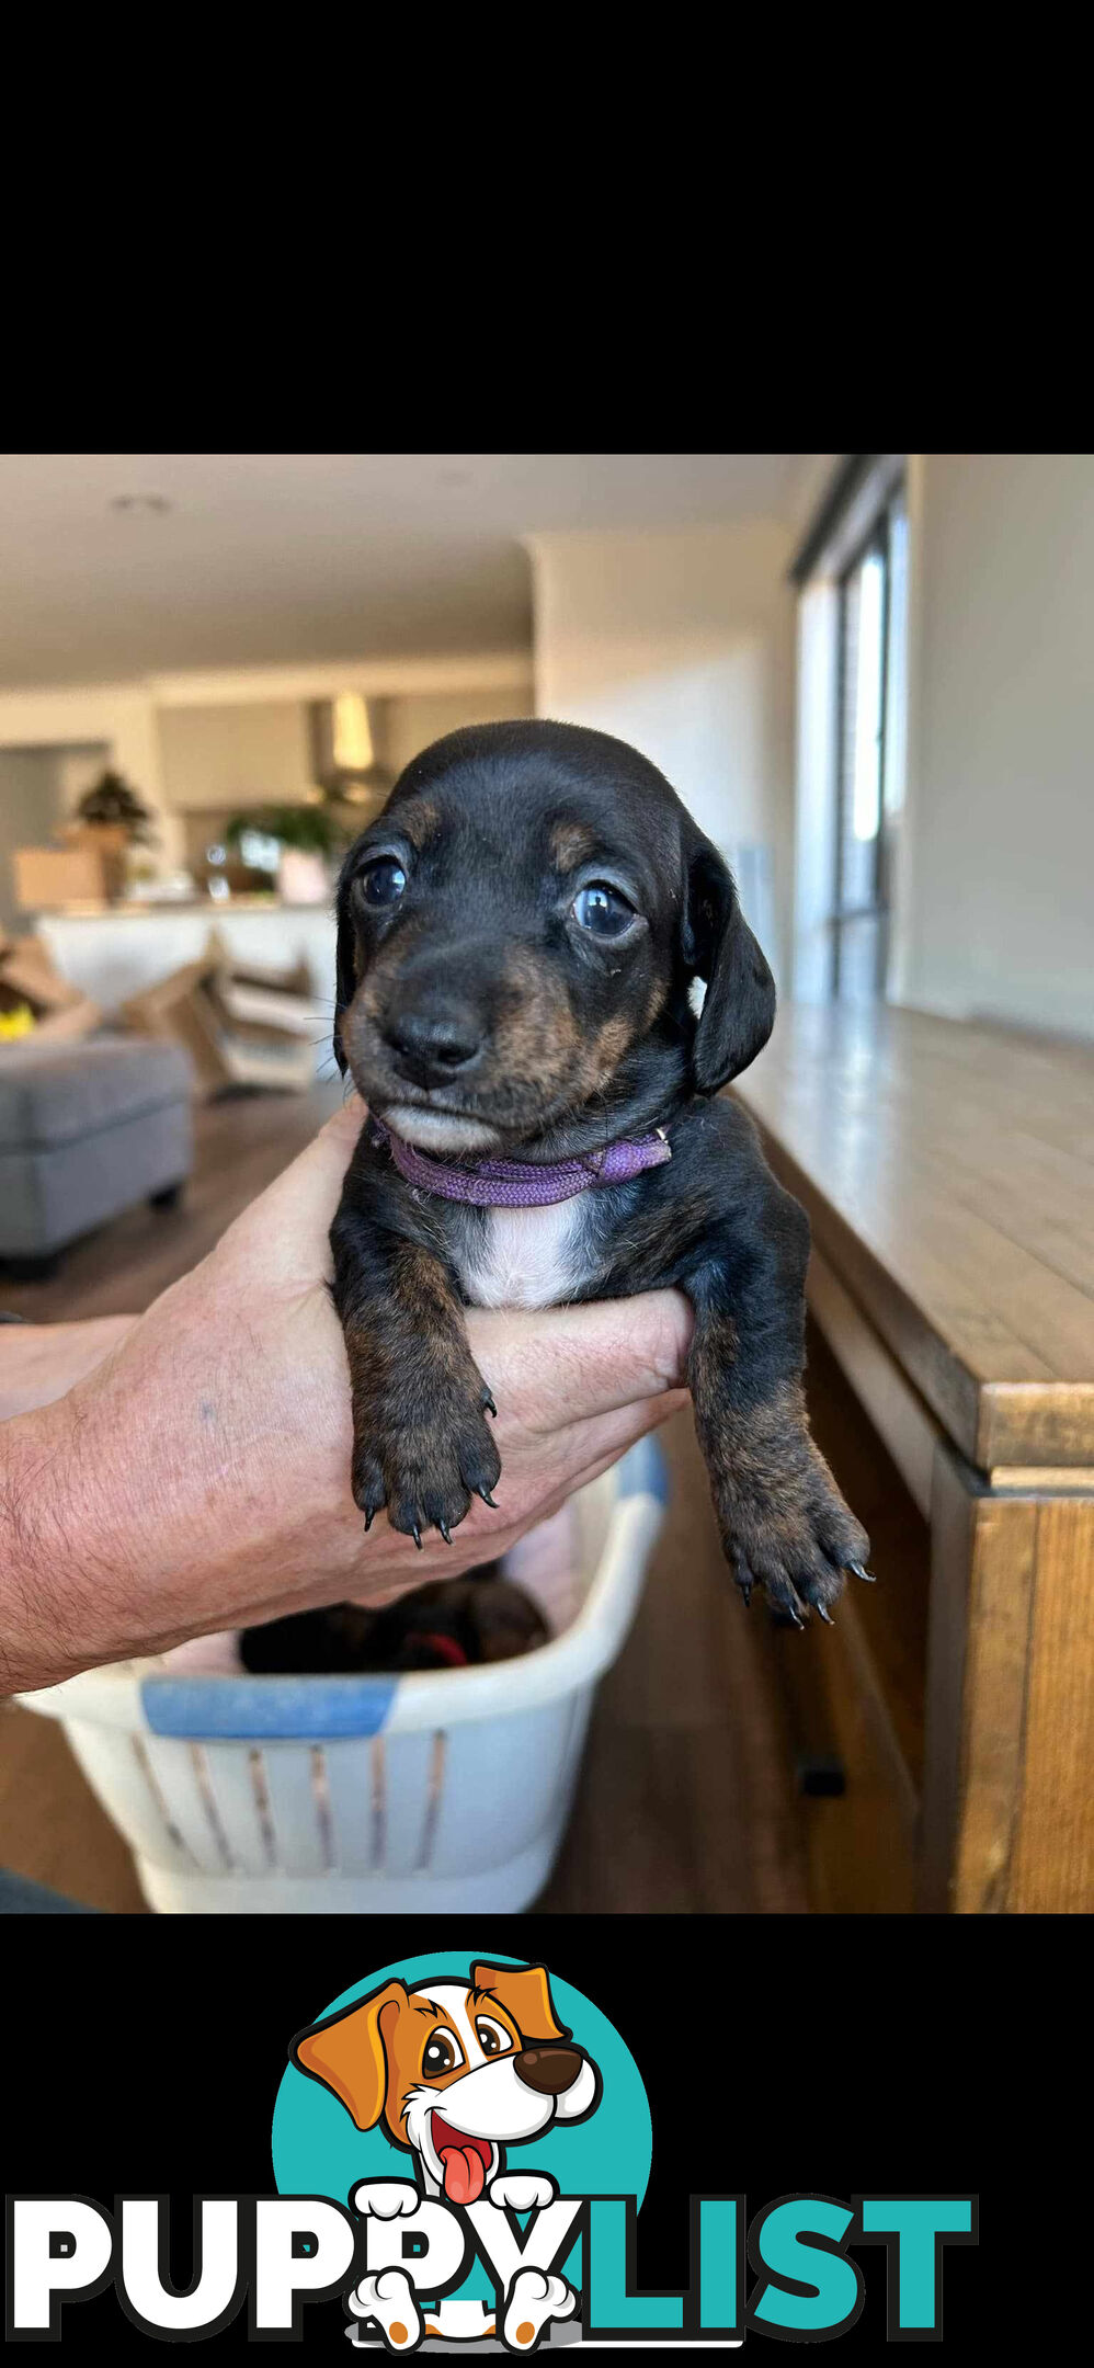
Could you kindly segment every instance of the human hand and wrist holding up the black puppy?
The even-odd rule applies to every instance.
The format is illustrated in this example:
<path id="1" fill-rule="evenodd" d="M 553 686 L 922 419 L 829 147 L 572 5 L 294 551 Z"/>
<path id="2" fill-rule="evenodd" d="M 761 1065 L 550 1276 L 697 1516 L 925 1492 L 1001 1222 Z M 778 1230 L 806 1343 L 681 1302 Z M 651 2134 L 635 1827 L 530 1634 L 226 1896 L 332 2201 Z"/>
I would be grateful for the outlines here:
<path id="1" fill-rule="evenodd" d="M 57 1684 L 322 1603 L 379 1606 L 504 1553 L 687 1402 L 673 1291 L 469 1312 L 497 1407 L 497 1511 L 417 1553 L 350 1497 L 350 1388 L 327 1231 L 360 1101 L 66 1397 L 0 1430 L 0 1684 Z M 14 1326 L 12 1326 L 14 1328 Z M 0 1513 L 0 1518 L 2 1518 Z"/>

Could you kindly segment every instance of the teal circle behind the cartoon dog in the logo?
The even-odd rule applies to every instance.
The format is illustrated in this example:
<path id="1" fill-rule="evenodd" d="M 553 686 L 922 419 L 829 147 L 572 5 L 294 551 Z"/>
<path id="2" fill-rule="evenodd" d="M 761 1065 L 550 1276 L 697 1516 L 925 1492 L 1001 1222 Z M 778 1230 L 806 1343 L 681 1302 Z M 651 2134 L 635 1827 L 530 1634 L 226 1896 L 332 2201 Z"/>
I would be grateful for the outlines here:
<path id="1" fill-rule="evenodd" d="M 493 1951 L 488 1963 L 523 1968 L 528 1958 Z M 324 2022 L 329 2015 L 343 2013 L 381 1989 L 384 1982 L 405 1982 L 407 1989 L 429 1994 L 431 1984 L 445 1980 L 466 1984 L 471 1961 L 455 1949 L 395 1958 L 339 1991 L 313 2020 Z M 639 2207 L 654 2155 L 654 2124 L 642 2072 L 616 2025 L 583 1989 L 556 1980 L 554 1973 L 549 1989 L 559 2022 L 573 2032 L 573 2044 L 599 2070 L 599 2100 L 583 2122 L 556 2119 L 540 2136 L 507 2143 L 507 2169 L 545 2171 L 556 2181 L 561 2195 L 632 2195 Z M 452 2096 L 452 2089 L 438 2093 Z M 332 2089 L 289 2065 L 272 2115 L 272 2171 L 279 2195 L 329 2195 L 332 2202 L 346 2205 L 360 2179 L 412 2181 L 417 2162 L 407 2148 L 388 2138 L 379 2122 L 374 2129 L 358 2129 Z M 523 2219 L 526 2214 L 521 2214 Z M 566 2276 L 580 2283 L 580 2240 L 566 2261 Z M 481 2273 L 471 2271 L 457 2295 L 478 2292 L 481 2283 Z"/>

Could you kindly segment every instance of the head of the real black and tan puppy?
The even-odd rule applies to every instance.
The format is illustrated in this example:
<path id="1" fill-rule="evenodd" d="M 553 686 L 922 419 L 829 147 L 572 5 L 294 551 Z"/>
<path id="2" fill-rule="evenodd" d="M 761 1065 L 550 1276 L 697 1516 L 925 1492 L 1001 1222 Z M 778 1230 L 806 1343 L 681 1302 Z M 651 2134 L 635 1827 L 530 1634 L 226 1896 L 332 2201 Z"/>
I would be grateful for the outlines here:
<path id="1" fill-rule="evenodd" d="M 699 1028 L 691 978 L 706 980 Z M 651 1049 L 710 1094 L 774 983 L 732 876 L 663 774 L 580 725 L 452 732 L 400 774 L 339 881 L 334 1049 L 424 1151 L 625 1113 Z"/>

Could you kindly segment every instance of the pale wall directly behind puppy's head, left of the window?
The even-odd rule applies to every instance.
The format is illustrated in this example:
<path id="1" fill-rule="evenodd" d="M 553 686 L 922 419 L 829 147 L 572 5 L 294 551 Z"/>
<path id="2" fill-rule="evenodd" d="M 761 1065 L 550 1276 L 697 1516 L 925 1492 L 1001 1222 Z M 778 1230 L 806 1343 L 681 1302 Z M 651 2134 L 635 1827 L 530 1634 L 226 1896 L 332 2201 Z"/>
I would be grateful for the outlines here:
<path id="1" fill-rule="evenodd" d="M 533 535 L 535 710 L 632 741 L 727 852 L 772 852 L 786 976 L 793 869 L 791 530 Z M 748 902 L 748 897 L 746 897 Z"/>

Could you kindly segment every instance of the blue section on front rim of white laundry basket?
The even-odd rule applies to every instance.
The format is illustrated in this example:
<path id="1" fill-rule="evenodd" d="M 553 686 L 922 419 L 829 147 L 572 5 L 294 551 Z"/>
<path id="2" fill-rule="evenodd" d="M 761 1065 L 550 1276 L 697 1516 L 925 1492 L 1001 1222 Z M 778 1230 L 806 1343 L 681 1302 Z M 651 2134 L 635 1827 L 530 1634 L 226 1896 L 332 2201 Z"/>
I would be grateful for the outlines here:
<path id="1" fill-rule="evenodd" d="M 147 1677 L 140 1688 L 154 1736 L 379 1736 L 398 1677 Z"/>

